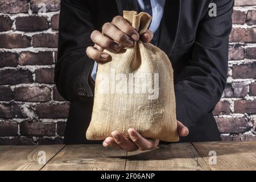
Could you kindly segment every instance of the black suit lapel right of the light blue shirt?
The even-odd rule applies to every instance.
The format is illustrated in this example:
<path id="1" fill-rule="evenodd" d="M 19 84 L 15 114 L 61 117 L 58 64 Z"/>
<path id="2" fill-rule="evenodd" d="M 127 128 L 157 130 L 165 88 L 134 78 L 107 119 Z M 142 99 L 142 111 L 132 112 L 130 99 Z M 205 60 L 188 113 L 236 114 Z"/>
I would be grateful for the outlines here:
<path id="1" fill-rule="evenodd" d="M 158 47 L 162 49 L 167 56 L 171 55 L 172 48 L 179 27 L 181 0 L 166 1 L 164 6 L 163 18 L 160 23 Z"/>

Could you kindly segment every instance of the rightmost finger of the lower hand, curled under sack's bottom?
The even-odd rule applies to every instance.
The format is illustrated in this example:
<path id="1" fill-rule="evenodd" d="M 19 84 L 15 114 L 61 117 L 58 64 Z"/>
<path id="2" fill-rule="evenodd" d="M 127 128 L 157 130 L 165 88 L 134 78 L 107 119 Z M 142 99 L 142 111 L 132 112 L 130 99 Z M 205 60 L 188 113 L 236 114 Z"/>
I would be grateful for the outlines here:
<path id="1" fill-rule="evenodd" d="M 131 140 L 141 149 L 141 150 L 150 150 L 156 147 L 155 140 L 148 140 L 143 138 L 138 131 L 134 129 L 129 129 L 128 133 L 130 135 Z"/>

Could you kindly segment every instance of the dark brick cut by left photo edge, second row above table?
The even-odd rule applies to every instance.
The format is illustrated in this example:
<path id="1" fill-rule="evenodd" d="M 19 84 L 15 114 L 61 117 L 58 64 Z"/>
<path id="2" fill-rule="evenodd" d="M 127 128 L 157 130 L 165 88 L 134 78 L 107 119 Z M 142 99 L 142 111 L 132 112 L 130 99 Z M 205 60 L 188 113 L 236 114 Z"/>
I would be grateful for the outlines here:
<path id="1" fill-rule="evenodd" d="M 0 136 L 10 137 L 18 135 L 18 124 L 16 122 L 0 121 Z"/>

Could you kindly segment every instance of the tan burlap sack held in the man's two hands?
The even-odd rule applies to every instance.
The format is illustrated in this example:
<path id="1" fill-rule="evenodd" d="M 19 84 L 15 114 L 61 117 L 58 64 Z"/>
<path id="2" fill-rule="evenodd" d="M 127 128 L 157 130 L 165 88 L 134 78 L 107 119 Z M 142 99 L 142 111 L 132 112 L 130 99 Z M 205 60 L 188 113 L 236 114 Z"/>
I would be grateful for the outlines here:
<path id="1" fill-rule="evenodd" d="M 151 16 L 123 11 L 123 17 L 142 34 Z M 114 130 L 129 138 L 134 128 L 143 137 L 167 142 L 179 140 L 173 70 L 168 56 L 151 43 L 135 42 L 112 60 L 98 64 L 92 120 L 86 138 L 102 140 Z"/>

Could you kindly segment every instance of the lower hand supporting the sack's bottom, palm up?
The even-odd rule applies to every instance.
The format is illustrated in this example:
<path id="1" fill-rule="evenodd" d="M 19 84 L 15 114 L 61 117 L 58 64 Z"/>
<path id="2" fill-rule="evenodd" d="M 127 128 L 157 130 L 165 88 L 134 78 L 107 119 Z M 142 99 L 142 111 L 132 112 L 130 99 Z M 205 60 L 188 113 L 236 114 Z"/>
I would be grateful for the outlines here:
<path id="1" fill-rule="evenodd" d="M 185 127 L 180 121 L 177 121 L 177 130 L 180 137 L 188 135 L 188 128 Z M 126 150 L 128 152 L 140 150 L 151 150 L 156 148 L 159 144 L 159 140 L 143 138 L 141 134 L 135 129 L 129 129 L 128 133 L 130 139 L 124 137 L 115 130 L 111 133 L 112 137 L 108 137 L 102 143 L 104 147 L 114 148 L 116 150 Z"/>

